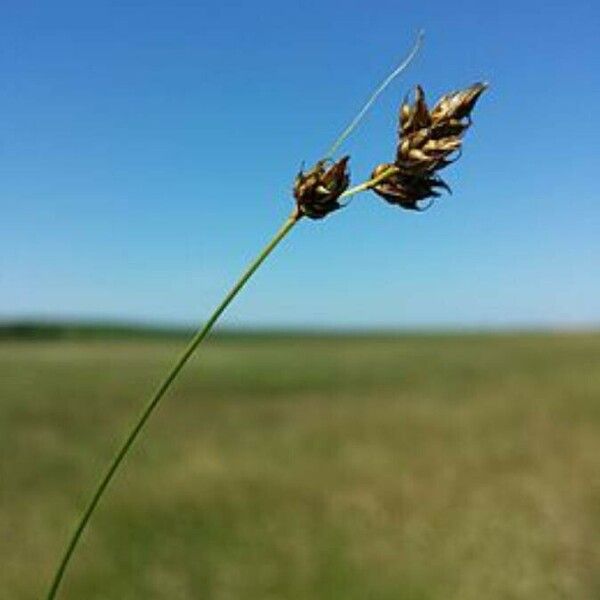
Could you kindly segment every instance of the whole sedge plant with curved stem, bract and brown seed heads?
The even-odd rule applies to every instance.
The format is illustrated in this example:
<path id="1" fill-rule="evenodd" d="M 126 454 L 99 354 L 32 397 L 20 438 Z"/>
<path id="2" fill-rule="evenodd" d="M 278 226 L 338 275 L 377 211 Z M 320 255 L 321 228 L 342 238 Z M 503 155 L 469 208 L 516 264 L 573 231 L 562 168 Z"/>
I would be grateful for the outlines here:
<path id="1" fill-rule="evenodd" d="M 443 96 L 431 110 L 425 103 L 423 89 L 417 86 L 414 103 L 410 104 L 405 100 L 400 107 L 398 146 L 394 160 L 375 167 L 368 180 L 350 187 L 348 170 L 350 157 L 343 156 L 337 161 L 333 160 L 334 154 L 360 123 L 378 96 L 413 61 L 422 41 L 423 33 L 420 32 L 408 56 L 371 94 L 365 105 L 332 144 L 325 157 L 317 161 L 308 171 L 301 170 L 298 173 L 293 186 L 295 206 L 291 214 L 189 341 L 147 401 L 106 472 L 100 478 L 60 558 L 45 596 L 46 600 L 54 600 L 57 597 L 67 566 L 81 536 L 116 472 L 157 406 L 198 346 L 212 331 L 223 312 L 297 223 L 307 219 L 322 219 L 346 206 L 345 200 L 369 190 L 390 204 L 408 210 L 428 208 L 429 204 L 423 206 L 421 202 L 433 201 L 440 196 L 441 189 L 449 191 L 448 185 L 441 179 L 438 171 L 460 156 L 462 136 L 471 125 L 470 114 L 475 103 L 487 87 L 484 83 L 476 83 L 464 90 Z"/>

